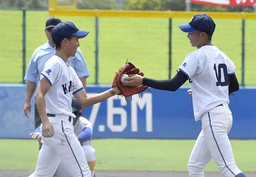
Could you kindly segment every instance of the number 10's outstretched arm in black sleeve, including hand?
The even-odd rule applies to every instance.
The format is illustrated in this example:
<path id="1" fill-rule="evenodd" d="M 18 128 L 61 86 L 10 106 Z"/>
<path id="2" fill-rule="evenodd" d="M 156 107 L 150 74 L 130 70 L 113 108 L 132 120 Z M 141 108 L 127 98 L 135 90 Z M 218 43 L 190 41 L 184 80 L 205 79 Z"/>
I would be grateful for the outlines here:
<path id="1" fill-rule="evenodd" d="M 123 85 L 132 87 L 146 85 L 148 87 L 156 88 L 159 90 L 176 91 L 187 80 L 188 77 L 180 71 L 172 79 L 167 80 L 154 80 L 136 74 L 132 75 L 131 77 L 124 78 Z"/>

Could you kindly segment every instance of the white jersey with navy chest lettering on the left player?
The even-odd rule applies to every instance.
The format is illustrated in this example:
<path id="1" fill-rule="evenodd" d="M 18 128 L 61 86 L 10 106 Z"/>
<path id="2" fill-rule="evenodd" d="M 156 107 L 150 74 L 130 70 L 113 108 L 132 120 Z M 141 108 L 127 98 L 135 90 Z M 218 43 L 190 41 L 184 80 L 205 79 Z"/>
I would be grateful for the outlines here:
<path id="1" fill-rule="evenodd" d="M 51 85 L 44 96 L 46 112 L 66 114 L 75 118 L 71 107 L 72 95 L 83 89 L 75 70 L 59 56 L 54 55 L 45 63 L 40 81 L 43 77 Z"/>

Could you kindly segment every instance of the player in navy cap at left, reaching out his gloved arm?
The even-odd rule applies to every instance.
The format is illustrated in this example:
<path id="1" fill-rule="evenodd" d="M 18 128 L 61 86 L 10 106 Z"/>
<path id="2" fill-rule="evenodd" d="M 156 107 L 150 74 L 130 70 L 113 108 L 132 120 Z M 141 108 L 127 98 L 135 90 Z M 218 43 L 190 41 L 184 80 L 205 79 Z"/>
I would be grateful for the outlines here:
<path id="1" fill-rule="evenodd" d="M 81 31 L 72 22 L 59 23 L 52 29 L 56 54 L 44 65 L 36 90 L 36 107 L 42 120 L 42 149 L 31 177 L 52 177 L 60 163 L 73 177 L 91 177 L 84 150 L 74 134 L 72 95 L 83 108 L 120 93 L 117 87 L 87 96 L 75 70 L 68 65 L 76 55 L 79 39 L 89 31 Z"/>

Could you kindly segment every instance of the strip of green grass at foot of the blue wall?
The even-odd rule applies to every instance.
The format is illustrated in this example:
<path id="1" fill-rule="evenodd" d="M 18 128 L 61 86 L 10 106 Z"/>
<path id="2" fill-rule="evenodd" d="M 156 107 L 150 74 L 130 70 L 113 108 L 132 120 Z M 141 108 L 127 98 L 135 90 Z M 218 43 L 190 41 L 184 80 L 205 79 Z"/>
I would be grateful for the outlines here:
<path id="1" fill-rule="evenodd" d="M 96 139 L 98 170 L 187 171 L 195 140 Z M 0 170 L 33 170 L 38 157 L 36 140 L 0 139 Z M 236 164 L 256 171 L 255 140 L 231 140 Z M 212 160 L 206 171 L 219 171 Z"/>

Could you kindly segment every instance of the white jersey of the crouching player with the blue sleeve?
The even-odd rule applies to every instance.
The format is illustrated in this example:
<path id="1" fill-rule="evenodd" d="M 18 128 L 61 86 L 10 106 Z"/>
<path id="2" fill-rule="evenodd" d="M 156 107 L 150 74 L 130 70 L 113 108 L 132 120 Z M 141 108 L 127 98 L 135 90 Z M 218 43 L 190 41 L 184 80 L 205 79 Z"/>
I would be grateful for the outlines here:
<path id="1" fill-rule="evenodd" d="M 75 135 L 79 135 L 83 130 L 84 128 L 91 128 L 92 129 L 92 123 L 84 118 L 84 117 L 80 117 L 76 124 L 74 125 L 74 133 Z M 82 142 L 81 145 L 90 145 L 92 146 L 92 141 L 91 140 L 88 140 L 86 142 Z"/>

